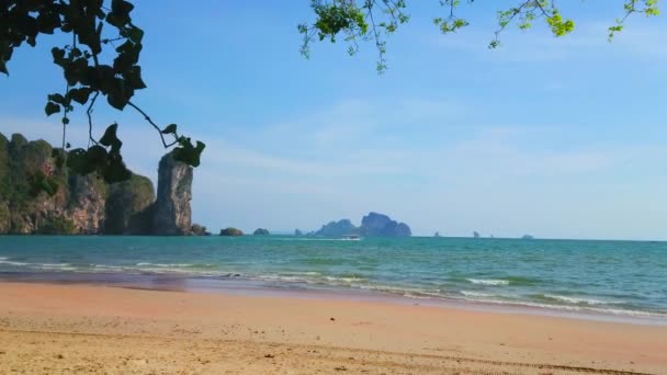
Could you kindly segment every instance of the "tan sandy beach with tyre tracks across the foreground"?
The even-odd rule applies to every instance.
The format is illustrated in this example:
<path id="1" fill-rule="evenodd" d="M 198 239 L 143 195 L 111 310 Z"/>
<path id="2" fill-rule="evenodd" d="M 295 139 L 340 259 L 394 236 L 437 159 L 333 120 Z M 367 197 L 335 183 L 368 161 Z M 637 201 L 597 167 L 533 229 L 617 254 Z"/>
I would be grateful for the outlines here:
<path id="1" fill-rule="evenodd" d="M 665 374 L 666 353 L 664 326 L 0 283 L 1 374 Z"/>

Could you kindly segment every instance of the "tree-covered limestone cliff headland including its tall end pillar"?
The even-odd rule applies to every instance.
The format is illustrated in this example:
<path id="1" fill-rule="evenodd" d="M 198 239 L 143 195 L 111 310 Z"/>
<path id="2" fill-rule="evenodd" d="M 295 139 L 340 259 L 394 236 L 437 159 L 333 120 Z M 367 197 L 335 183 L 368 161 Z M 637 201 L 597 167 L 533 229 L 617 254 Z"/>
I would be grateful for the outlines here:
<path id="1" fill-rule="evenodd" d="M 106 184 L 97 173 L 57 171 L 54 148 L 45 140 L 0 133 L 0 234 L 14 235 L 206 235 L 193 225 L 192 167 L 171 154 L 158 168 L 157 196 L 152 182 L 139 174 Z M 49 196 L 35 189 L 50 179 Z"/>

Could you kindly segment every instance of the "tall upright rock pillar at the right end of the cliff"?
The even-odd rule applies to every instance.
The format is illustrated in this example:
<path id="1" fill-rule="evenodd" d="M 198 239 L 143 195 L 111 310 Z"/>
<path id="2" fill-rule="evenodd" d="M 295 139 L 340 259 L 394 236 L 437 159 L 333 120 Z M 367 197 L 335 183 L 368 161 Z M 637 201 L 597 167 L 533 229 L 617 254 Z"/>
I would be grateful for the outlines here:
<path id="1" fill-rule="evenodd" d="M 158 169 L 158 197 L 152 232 L 161 236 L 185 235 L 192 226 L 192 167 L 167 154 Z"/>

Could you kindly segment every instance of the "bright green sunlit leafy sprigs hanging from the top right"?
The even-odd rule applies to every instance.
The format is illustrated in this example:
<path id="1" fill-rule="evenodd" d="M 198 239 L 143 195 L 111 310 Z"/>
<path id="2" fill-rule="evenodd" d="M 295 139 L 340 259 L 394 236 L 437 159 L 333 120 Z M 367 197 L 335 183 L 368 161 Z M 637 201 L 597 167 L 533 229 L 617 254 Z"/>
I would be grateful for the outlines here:
<path id="1" fill-rule="evenodd" d="M 536 21 L 543 21 L 554 36 L 564 36 L 575 30 L 572 19 L 561 13 L 555 0 L 512 0 L 513 5 L 498 11 L 498 24 L 489 48 L 500 45 L 500 34 L 515 24 L 521 30 L 533 26 Z M 336 43 L 339 37 L 348 43 L 348 53 L 354 55 L 360 42 L 371 42 L 377 49 L 377 71 L 383 72 L 386 64 L 386 36 L 410 20 L 407 13 L 408 0 L 312 0 L 310 8 L 315 20 L 298 25 L 303 36 L 301 52 L 310 56 L 313 42 L 330 41 Z M 470 23 L 460 16 L 462 0 L 438 0 L 443 9 L 442 15 L 432 19 L 433 24 L 443 34 L 456 32 Z M 474 0 L 466 2 L 473 3 Z M 609 39 L 623 30 L 628 16 L 643 13 L 646 16 L 657 15 L 658 0 L 623 0 L 622 16 L 609 27 Z"/>

